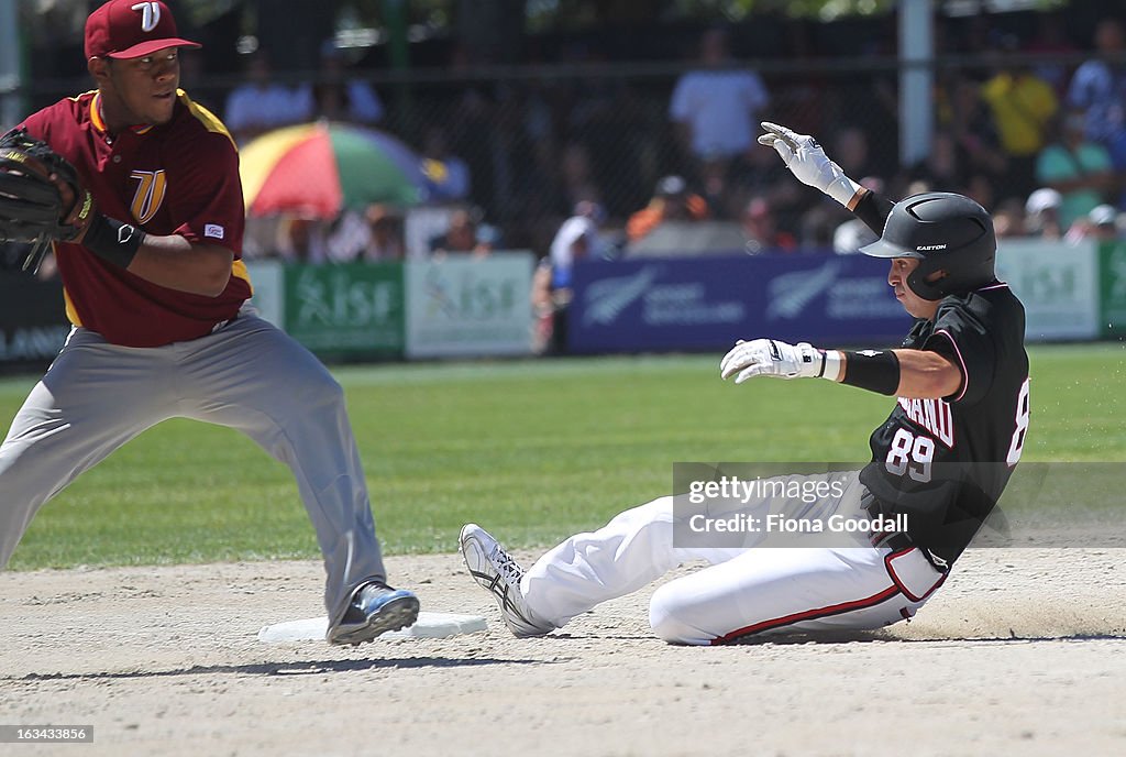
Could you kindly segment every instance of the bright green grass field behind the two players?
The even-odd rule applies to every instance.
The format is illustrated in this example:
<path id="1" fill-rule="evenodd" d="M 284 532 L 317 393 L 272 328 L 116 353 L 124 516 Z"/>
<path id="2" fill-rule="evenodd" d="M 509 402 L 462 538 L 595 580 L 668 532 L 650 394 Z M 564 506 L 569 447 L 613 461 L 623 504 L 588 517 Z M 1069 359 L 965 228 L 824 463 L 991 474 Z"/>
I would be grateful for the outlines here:
<path id="1" fill-rule="evenodd" d="M 1126 348 L 1042 346 L 1025 461 L 1126 461 Z M 387 553 L 467 520 L 547 545 L 668 493 L 672 463 L 863 461 L 891 400 L 720 381 L 718 356 L 379 365 L 348 393 Z M 5 427 L 35 377 L 0 382 Z M 2 496 L 2 495 L 0 495 Z M 224 428 L 150 429 L 48 502 L 12 569 L 319 556 L 288 469 Z"/>

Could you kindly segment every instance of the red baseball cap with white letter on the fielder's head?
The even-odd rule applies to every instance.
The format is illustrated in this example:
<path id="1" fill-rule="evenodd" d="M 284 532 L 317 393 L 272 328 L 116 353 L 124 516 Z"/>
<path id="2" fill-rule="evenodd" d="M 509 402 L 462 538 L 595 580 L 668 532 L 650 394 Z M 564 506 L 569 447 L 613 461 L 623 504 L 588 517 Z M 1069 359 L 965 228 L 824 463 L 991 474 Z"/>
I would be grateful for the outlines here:
<path id="1" fill-rule="evenodd" d="M 199 47 L 177 36 L 172 11 L 160 0 L 110 0 L 86 19 L 86 57 L 143 57 L 166 47 Z"/>

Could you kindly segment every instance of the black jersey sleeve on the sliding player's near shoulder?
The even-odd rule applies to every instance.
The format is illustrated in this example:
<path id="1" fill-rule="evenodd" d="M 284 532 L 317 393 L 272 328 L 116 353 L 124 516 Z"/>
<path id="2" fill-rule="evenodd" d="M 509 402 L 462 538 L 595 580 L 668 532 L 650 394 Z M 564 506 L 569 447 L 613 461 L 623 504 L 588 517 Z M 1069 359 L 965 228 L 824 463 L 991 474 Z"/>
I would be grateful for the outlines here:
<path id="1" fill-rule="evenodd" d="M 962 384 L 942 399 L 963 406 L 976 404 L 990 390 L 997 369 L 997 349 L 986 323 L 989 308 L 973 294 L 949 296 L 935 313 L 935 327 L 922 349 L 938 353 L 962 373 Z"/>

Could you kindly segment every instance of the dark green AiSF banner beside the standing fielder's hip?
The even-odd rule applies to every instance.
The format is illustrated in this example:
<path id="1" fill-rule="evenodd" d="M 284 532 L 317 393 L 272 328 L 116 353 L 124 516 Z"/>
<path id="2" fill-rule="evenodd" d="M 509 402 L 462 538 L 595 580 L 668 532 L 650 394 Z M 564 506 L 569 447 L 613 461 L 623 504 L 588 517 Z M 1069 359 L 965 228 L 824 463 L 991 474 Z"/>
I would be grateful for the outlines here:
<path id="1" fill-rule="evenodd" d="M 285 330 L 319 355 L 401 356 L 404 310 L 401 264 L 285 267 Z"/>

